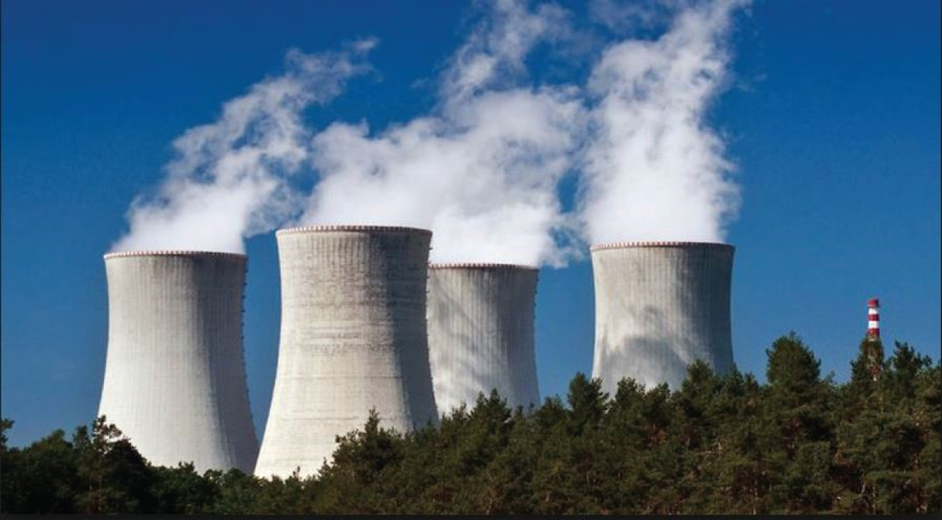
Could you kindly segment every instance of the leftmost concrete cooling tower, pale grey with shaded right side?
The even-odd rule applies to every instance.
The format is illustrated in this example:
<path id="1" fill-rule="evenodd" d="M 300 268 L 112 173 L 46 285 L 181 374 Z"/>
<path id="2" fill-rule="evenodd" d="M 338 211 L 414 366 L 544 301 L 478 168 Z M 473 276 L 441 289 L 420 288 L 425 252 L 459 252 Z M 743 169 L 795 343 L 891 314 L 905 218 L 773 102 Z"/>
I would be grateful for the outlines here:
<path id="1" fill-rule="evenodd" d="M 252 471 L 242 355 L 246 257 L 105 255 L 108 349 L 99 414 L 154 465 Z"/>

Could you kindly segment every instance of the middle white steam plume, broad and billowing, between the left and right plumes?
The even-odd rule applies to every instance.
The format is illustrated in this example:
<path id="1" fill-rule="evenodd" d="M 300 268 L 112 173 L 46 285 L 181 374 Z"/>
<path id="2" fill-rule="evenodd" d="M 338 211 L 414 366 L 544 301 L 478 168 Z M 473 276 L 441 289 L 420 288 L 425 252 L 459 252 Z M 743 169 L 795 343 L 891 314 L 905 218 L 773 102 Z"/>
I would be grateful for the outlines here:
<path id="1" fill-rule="evenodd" d="M 566 13 L 501 1 L 452 56 L 436 108 L 371 135 L 335 123 L 313 140 L 320 182 L 300 221 L 431 228 L 433 261 L 561 264 L 569 225 L 575 87 L 513 87 L 528 53 L 566 36 Z"/>

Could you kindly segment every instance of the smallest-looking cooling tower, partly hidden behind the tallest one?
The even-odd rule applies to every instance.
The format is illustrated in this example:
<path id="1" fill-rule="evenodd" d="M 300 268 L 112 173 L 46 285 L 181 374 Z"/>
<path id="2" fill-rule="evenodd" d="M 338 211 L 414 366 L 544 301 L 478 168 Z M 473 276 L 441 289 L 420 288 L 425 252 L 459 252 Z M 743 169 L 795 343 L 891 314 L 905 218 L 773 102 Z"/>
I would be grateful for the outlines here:
<path id="1" fill-rule="evenodd" d="M 496 388 L 525 408 L 540 400 L 533 347 L 539 271 L 506 264 L 432 264 L 429 358 L 439 414 Z"/>

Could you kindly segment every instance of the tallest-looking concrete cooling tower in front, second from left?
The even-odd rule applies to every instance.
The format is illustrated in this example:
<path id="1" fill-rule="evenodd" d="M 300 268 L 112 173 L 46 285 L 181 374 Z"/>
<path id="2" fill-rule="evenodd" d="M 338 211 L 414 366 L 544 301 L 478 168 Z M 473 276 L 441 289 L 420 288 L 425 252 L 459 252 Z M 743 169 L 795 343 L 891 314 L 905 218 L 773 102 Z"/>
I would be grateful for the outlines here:
<path id="1" fill-rule="evenodd" d="M 436 422 L 426 330 L 431 232 L 317 226 L 277 232 L 278 370 L 255 474 L 311 475 L 375 408 L 399 432 Z"/>

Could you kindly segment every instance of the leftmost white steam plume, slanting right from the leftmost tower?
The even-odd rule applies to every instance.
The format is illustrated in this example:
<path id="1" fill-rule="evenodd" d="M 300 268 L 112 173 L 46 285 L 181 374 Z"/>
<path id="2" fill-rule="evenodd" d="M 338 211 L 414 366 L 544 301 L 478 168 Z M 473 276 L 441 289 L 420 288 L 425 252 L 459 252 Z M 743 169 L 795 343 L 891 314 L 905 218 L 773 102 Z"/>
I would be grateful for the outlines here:
<path id="1" fill-rule="evenodd" d="M 301 112 L 329 102 L 345 82 L 369 70 L 365 39 L 339 52 L 290 51 L 283 74 L 226 102 L 216 122 L 173 142 L 176 157 L 153 197 L 138 197 L 129 231 L 113 251 L 194 249 L 241 253 L 243 239 L 298 213 L 288 177 L 309 156 Z"/>

